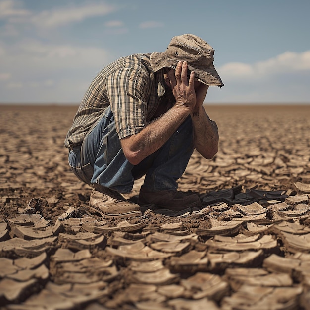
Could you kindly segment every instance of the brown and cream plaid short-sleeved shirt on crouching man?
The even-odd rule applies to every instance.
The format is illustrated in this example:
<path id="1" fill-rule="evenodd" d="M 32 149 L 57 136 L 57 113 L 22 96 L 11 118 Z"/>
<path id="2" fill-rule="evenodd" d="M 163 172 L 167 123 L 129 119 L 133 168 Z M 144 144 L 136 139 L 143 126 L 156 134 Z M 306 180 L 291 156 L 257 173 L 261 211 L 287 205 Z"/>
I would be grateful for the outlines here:
<path id="1" fill-rule="evenodd" d="M 67 133 L 64 142 L 67 148 L 82 144 L 89 129 L 109 105 L 120 139 L 138 133 L 159 116 L 158 111 L 171 108 L 174 97 L 171 90 L 166 91 L 163 69 L 153 71 L 150 55 L 119 58 L 95 77 Z"/>

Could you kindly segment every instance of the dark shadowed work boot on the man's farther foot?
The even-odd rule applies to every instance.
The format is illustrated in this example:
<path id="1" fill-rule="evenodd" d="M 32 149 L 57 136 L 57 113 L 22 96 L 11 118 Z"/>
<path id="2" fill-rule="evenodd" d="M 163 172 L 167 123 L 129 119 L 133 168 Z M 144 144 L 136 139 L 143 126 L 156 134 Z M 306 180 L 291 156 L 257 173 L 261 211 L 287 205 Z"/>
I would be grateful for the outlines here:
<path id="1" fill-rule="evenodd" d="M 150 192 L 140 189 L 138 204 L 140 206 L 154 204 L 157 207 L 181 211 L 184 209 L 202 206 L 200 198 L 194 193 L 184 193 L 180 191 L 158 191 Z"/>

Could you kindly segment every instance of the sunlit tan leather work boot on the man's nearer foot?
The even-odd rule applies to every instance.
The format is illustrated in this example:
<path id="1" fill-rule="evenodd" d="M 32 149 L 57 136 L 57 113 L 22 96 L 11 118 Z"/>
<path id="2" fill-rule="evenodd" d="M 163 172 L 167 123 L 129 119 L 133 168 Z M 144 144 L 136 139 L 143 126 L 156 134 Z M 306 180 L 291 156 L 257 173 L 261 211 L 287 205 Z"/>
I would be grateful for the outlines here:
<path id="1" fill-rule="evenodd" d="M 121 194 L 109 188 L 93 185 L 89 206 L 104 218 L 141 216 L 139 205 L 126 200 Z"/>

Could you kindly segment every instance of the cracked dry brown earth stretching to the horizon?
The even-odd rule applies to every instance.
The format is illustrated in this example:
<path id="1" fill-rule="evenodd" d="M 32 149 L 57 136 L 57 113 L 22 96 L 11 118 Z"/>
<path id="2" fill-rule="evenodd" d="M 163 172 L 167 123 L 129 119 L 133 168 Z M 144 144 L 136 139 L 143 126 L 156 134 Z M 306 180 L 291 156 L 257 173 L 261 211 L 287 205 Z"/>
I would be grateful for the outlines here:
<path id="1" fill-rule="evenodd" d="M 310 309 L 310 106 L 206 106 L 219 152 L 179 181 L 202 209 L 122 220 L 69 170 L 76 109 L 0 106 L 1 309 Z"/>

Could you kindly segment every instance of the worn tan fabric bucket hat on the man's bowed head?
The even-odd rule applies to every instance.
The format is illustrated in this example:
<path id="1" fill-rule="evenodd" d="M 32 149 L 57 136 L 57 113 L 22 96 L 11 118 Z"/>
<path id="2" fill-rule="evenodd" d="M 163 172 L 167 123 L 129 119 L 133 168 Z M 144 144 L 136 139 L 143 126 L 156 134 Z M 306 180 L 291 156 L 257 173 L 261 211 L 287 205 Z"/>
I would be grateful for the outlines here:
<path id="1" fill-rule="evenodd" d="M 179 61 L 187 61 L 188 68 L 195 72 L 195 78 L 209 86 L 224 86 L 213 65 L 214 49 L 203 39 L 184 34 L 171 39 L 165 52 L 153 52 L 150 62 L 157 72 L 164 67 L 175 69 Z"/>

